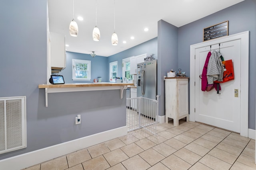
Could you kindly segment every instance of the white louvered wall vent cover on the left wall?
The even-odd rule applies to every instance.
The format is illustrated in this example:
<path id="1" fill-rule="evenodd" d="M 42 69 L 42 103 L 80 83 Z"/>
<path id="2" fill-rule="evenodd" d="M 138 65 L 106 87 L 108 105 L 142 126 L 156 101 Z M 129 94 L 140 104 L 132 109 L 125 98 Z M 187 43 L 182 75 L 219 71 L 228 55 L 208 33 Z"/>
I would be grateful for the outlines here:
<path id="1" fill-rule="evenodd" d="M 26 148 L 26 96 L 0 98 L 0 154 Z"/>

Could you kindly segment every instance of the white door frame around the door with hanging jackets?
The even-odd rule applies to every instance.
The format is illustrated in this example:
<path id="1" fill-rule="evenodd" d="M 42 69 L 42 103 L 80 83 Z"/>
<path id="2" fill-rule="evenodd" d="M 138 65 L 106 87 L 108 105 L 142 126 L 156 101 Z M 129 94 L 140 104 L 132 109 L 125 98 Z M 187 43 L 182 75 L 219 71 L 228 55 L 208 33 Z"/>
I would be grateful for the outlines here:
<path id="1" fill-rule="evenodd" d="M 249 31 L 213 39 L 210 41 L 190 45 L 190 121 L 196 121 L 196 82 L 195 82 L 195 54 L 196 49 L 225 43 L 228 41 L 241 40 L 241 89 L 240 89 L 240 135 L 248 137 L 248 66 L 249 66 Z"/>

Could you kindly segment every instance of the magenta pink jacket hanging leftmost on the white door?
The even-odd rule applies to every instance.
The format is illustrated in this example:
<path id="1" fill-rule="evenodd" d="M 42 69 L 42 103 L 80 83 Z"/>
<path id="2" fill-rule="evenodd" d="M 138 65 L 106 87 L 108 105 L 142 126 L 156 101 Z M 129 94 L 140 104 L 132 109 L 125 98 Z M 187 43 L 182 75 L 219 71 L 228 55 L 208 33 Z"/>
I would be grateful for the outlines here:
<path id="1" fill-rule="evenodd" d="M 217 83 L 214 82 L 213 84 L 208 84 L 208 80 L 207 80 L 207 69 L 208 69 L 208 63 L 209 63 L 211 55 L 212 55 L 212 53 L 209 51 L 209 53 L 207 54 L 205 63 L 204 63 L 204 68 L 203 68 L 203 71 L 202 71 L 201 90 L 209 92 L 210 90 L 215 88 L 218 92 L 218 90 L 221 90 L 220 86 L 219 86 L 219 89 L 218 89 L 218 87 L 217 87 L 218 84 Z"/>

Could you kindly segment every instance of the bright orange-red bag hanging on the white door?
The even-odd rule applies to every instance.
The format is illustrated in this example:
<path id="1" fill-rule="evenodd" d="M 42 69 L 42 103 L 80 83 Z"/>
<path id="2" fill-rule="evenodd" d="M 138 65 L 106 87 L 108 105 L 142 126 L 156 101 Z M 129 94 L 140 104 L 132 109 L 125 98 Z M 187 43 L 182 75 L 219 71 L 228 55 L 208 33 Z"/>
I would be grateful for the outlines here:
<path id="1" fill-rule="evenodd" d="M 233 67 L 232 60 L 222 61 L 222 65 L 224 67 L 223 81 L 222 82 L 214 81 L 215 83 L 224 83 L 230 80 L 234 80 L 234 67 Z"/>

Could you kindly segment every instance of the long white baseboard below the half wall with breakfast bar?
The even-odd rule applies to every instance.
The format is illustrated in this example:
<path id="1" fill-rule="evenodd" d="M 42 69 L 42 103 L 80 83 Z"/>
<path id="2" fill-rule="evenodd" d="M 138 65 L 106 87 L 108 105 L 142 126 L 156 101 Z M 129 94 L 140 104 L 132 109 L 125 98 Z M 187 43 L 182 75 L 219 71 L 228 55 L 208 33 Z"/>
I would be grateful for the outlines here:
<path id="1" fill-rule="evenodd" d="M 18 156 L 13 156 L 0 160 L 1 169 L 5 170 L 17 170 L 22 168 L 27 168 L 75 152 L 80 149 L 84 149 L 123 135 L 127 135 L 127 127 L 119 127 L 109 131 L 104 131 L 87 137 L 82 137 L 80 139 L 75 139 L 65 143 L 60 143 L 51 147 L 44 149 L 35 150 L 25 154 L 20 154 Z"/>

